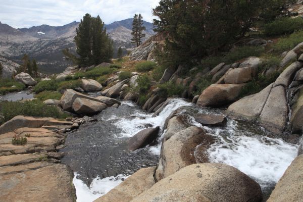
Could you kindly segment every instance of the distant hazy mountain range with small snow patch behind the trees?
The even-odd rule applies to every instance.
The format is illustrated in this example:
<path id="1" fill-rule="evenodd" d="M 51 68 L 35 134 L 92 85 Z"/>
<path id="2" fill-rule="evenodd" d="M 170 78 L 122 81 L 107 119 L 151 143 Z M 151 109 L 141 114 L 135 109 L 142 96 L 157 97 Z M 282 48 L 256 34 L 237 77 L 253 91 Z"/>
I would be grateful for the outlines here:
<path id="1" fill-rule="evenodd" d="M 72 22 L 64 26 L 40 25 L 31 28 L 15 29 L 7 24 L 0 23 L 0 55 L 21 64 L 24 54 L 35 58 L 44 73 L 59 73 L 70 65 L 65 61 L 62 49 L 71 48 L 75 51 L 73 38 L 79 22 Z M 105 25 L 110 37 L 114 40 L 115 50 L 119 46 L 126 52 L 127 48 L 134 47 L 131 43 L 132 19 L 117 21 Z M 146 27 L 145 38 L 154 34 L 153 24 L 144 21 Z"/>

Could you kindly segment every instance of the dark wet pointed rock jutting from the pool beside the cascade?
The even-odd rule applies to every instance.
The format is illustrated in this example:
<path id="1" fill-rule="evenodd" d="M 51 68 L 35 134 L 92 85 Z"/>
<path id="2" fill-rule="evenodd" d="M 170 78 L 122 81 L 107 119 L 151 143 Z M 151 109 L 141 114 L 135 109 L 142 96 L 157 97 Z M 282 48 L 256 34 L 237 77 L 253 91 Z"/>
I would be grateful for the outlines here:
<path id="1" fill-rule="evenodd" d="M 159 130 L 160 127 L 141 130 L 128 140 L 129 150 L 134 151 L 153 142 L 158 137 Z"/>

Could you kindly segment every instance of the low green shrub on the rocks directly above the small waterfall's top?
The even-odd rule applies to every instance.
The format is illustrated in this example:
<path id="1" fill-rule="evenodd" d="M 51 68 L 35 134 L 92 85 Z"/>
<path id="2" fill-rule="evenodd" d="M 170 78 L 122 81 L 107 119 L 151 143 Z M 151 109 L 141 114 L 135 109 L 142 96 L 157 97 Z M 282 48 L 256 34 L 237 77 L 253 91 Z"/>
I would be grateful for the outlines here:
<path id="1" fill-rule="evenodd" d="M 159 84 L 157 86 L 159 90 L 157 91 L 157 94 L 160 97 L 170 97 L 173 95 L 181 95 L 182 92 L 184 91 L 184 87 L 182 85 L 177 85 L 174 82 L 166 82 L 163 84 Z"/>

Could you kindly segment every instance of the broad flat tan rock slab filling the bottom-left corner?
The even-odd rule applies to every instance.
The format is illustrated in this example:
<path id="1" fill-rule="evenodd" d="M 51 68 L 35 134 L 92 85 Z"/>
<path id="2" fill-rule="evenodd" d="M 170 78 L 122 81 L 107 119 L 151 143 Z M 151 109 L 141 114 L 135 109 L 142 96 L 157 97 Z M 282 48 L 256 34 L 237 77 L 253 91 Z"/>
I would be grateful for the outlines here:
<path id="1" fill-rule="evenodd" d="M 22 173 L 0 176 L 1 201 L 72 202 L 75 190 L 73 174 L 56 164 Z"/>

